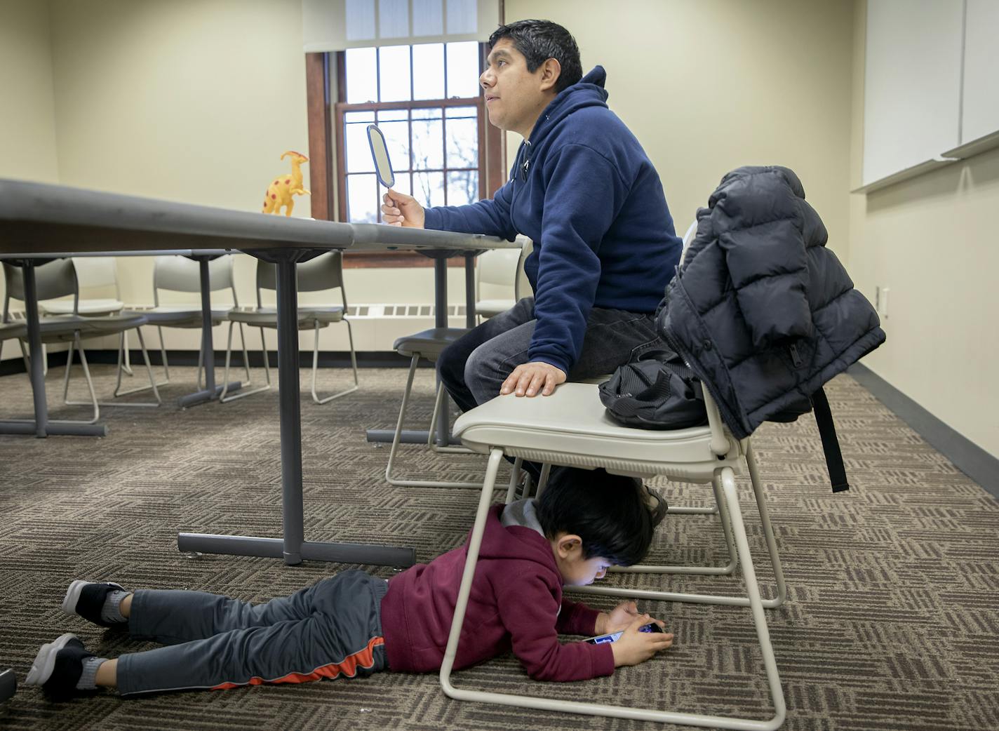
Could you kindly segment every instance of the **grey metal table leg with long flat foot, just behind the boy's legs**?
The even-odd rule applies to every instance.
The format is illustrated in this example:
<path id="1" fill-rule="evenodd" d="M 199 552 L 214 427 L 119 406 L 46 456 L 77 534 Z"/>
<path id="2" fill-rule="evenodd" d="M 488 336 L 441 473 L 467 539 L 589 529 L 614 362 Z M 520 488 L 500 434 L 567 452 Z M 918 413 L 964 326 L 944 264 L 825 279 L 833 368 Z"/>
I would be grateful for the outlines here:
<path id="1" fill-rule="evenodd" d="M 287 255 L 278 257 L 277 264 L 278 388 L 281 400 L 281 501 L 284 538 L 179 533 L 177 546 L 182 551 L 284 558 L 285 563 L 289 565 L 301 563 L 303 559 L 313 559 L 412 566 L 416 563 L 416 551 L 413 548 L 360 543 L 320 543 L 304 539 L 296 265 L 295 259 Z"/>

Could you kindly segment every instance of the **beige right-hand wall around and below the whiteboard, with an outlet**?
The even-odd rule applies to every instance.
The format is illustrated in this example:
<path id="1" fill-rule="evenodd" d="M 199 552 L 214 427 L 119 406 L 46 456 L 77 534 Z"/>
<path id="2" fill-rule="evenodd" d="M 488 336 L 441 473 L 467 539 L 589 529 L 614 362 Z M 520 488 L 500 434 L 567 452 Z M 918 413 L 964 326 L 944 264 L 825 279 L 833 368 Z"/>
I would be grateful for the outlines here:
<path id="1" fill-rule="evenodd" d="M 851 183 L 863 160 L 866 6 L 854 25 Z M 850 197 L 849 271 L 889 290 L 885 346 L 864 365 L 999 456 L 999 150 Z"/>

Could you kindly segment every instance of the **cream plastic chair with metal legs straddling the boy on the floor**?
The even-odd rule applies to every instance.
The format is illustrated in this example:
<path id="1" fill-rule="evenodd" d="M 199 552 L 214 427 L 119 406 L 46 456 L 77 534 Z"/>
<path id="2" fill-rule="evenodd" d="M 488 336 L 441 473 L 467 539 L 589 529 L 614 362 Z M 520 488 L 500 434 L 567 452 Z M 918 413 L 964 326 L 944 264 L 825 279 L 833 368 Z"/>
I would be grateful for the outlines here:
<path id="1" fill-rule="evenodd" d="M 628 428 L 612 422 L 607 417 L 594 384 L 563 383 L 552 395 L 544 398 L 499 396 L 459 417 L 455 423 L 455 433 L 461 436 L 467 446 L 476 451 L 489 453 L 490 461 L 483 482 L 475 526 L 469 541 L 469 554 L 458 595 L 455 618 L 441 667 L 441 684 L 448 696 L 461 700 L 477 700 L 539 710 L 754 731 L 776 729 L 783 723 L 786 713 L 783 691 L 780 687 L 763 609 L 780 606 L 787 593 L 773 529 L 763 499 L 762 483 L 749 439 L 739 441 L 724 428 L 717 406 L 706 390 L 705 404 L 709 422 L 707 426 L 675 431 Z M 600 703 L 560 701 L 540 696 L 493 693 L 454 686 L 451 682 L 451 672 L 465 621 L 483 531 L 493 490 L 496 487 L 497 471 L 504 454 L 553 464 L 584 468 L 604 467 L 611 472 L 642 477 L 661 474 L 674 481 L 710 483 L 720 497 L 721 520 L 731 523 L 730 529 L 745 580 L 745 595 L 688 594 L 663 591 L 658 588 L 633 589 L 612 586 L 572 588 L 612 596 L 748 606 L 762 652 L 766 679 L 774 706 L 773 716 L 760 721 L 658 709 L 626 708 Z M 760 595 L 735 489 L 735 474 L 741 472 L 743 461 L 748 467 L 773 565 L 776 592 L 775 596 L 769 599 L 763 599 Z M 690 572 L 685 567 L 671 566 L 631 566 L 624 570 L 645 574 Z M 566 587 L 566 590 L 568 589 L 569 587 Z"/>

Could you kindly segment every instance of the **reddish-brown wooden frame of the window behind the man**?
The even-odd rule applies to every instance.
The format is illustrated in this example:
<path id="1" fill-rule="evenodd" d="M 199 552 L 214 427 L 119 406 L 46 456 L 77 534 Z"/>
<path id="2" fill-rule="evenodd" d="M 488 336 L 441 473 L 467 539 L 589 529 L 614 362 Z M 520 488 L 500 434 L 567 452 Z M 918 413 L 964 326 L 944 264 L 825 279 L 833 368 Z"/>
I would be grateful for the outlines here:
<path id="1" fill-rule="evenodd" d="M 410 44 L 412 45 L 412 44 Z M 486 63 L 486 57 L 489 54 L 489 46 L 485 43 L 479 44 L 480 54 L 479 54 L 479 64 L 480 64 L 480 74 Z M 478 117 L 478 129 L 479 129 L 479 193 L 480 200 L 485 198 L 492 198 L 497 190 L 500 189 L 502 184 L 505 182 L 505 173 L 503 171 L 503 155 L 504 155 L 504 140 L 503 133 L 492 124 L 488 123 L 487 109 L 486 109 L 486 97 L 484 90 L 480 87 L 478 97 L 465 97 L 458 99 L 433 99 L 433 100 L 420 100 L 420 101 L 403 101 L 403 102 L 366 102 L 366 103 L 347 103 L 347 66 L 346 66 L 346 52 L 337 51 L 335 53 L 324 53 L 324 54 L 307 54 L 307 57 L 319 57 L 316 60 L 310 61 L 307 59 L 307 76 L 310 77 L 307 80 L 307 90 L 309 96 L 309 109 L 310 109 L 310 152 L 315 155 L 320 155 L 320 150 L 322 152 L 322 159 L 324 164 L 320 166 L 315 166 L 312 168 L 311 172 L 311 182 L 313 184 L 313 217 L 314 218 L 324 218 L 327 220 L 337 220 L 346 221 L 347 218 L 347 171 L 345 165 L 345 141 L 344 141 L 344 115 L 348 112 L 365 112 L 372 111 L 378 112 L 380 110 L 413 110 L 413 109 L 427 109 L 427 108 L 445 108 L 445 107 L 476 107 L 477 117 Z M 332 99 L 332 73 L 333 66 L 337 74 L 337 100 Z M 447 68 L 447 66 L 446 66 Z M 318 75 L 322 79 L 322 86 L 316 81 Z M 322 89 L 322 97 L 320 97 L 319 91 Z M 325 108 L 325 109 L 324 109 Z M 325 112 L 321 113 L 321 112 Z M 411 120 L 412 122 L 412 120 Z M 320 134 L 320 131 L 314 129 L 318 128 L 319 125 L 323 125 L 325 129 L 321 132 L 325 134 Z M 442 131 L 442 134 L 446 134 Z M 316 143 L 316 147 L 313 147 L 313 143 Z M 315 158 L 312 158 L 315 159 Z M 409 166 L 408 166 L 409 167 Z M 442 170 L 447 175 L 448 160 L 447 156 L 444 160 L 444 167 Z M 456 169 L 457 170 L 457 169 Z M 463 169 L 467 170 L 467 169 Z M 323 175 L 323 173 L 326 173 Z M 333 195 L 333 177 L 336 176 L 337 181 L 337 216 L 334 217 L 334 195 Z M 320 183 L 322 185 L 323 178 L 325 178 L 326 188 L 325 191 L 321 191 L 320 199 L 326 200 L 327 206 L 326 211 L 317 210 L 317 178 L 320 178 Z M 322 216 L 318 215 L 322 214 Z M 381 216 L 381 214 L 380 214 Z M 344 267 L 348 269 L 352 268 L 367 268 L 367 267 L 430 267 L 433 266 L 433 260 L 428 257 L 421 256 L 420 254 L 412 252 L 366 252 L 366 253 L 345 253 L 344 257 Z M 464 266 L 464 258 L 458 257 L 449 260 L 449 266 Z"/>

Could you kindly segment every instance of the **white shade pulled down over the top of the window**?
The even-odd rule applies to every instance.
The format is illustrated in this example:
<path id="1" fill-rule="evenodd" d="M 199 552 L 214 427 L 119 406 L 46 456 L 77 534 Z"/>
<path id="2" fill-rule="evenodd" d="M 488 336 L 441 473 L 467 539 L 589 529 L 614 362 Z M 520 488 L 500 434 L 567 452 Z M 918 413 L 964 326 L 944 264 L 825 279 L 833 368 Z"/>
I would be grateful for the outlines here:
<path id="1" fill-rule="evenodd" d="M 450 41 L 487 41 L 499 0 L 302 0 L 306 53 Z"/>

